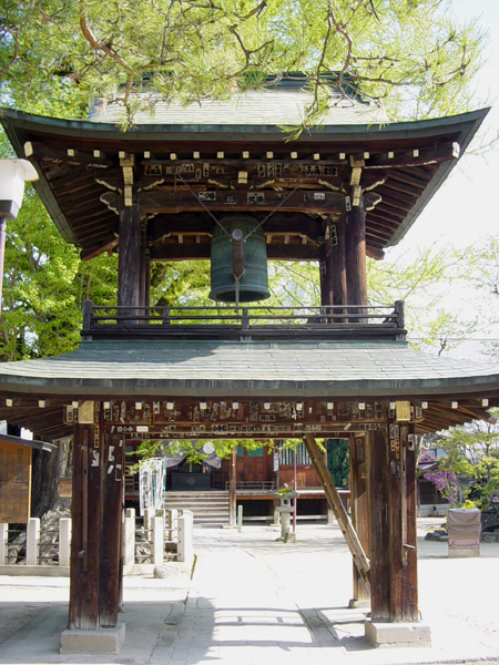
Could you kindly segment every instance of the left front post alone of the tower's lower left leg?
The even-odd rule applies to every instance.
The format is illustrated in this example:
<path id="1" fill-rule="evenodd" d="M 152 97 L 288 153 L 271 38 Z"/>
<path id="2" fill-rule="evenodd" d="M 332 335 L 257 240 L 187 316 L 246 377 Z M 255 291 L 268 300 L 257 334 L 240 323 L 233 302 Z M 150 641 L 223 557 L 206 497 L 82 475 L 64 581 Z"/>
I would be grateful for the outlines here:
<path id="1" fill-rule="evenodd" d="M 84 402 L 93 417 L 94 402 Z M 81 409 L 80 409 L 81 411 Z M 99 627 L 102 454 L 96 423 L 73 430 L 69 628 Z"/>

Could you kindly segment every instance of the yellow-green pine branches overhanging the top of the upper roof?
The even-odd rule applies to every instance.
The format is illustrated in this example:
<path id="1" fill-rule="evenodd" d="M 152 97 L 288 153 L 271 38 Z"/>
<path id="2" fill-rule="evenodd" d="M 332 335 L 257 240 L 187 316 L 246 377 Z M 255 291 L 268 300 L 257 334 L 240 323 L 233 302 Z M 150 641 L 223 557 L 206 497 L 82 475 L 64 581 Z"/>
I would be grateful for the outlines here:
<path id="1" fill-rule="evenodd" d="M 130 125 L 138 91 L 151 108 L 202 103 L 302 71 L 312 94 L 298 134 L 336 103 L 330 72 L 393 119 L 467 110 L 482 42 L 438 0 L 6 0 L 0 91 L 27 110 L 62 84 L 72 111 L 105 96 Z"/>

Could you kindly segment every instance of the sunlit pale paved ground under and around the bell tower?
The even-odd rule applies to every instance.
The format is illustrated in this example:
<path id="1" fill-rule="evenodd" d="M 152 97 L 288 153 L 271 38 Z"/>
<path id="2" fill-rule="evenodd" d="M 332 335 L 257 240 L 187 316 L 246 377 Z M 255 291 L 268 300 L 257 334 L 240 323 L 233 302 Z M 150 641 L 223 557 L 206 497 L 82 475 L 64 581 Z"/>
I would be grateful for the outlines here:
<path id="1" fill-rule="evenodd" d="M 347 610 L 352 559 L 336 526 L 298 524 L 295 544 L 263 526 L 196 530 L 193 580 L 125 579 L 126 641 L 118 655 L 59 655 L 68 581 L 0 577 L 0 664 L 384 665 L 499 663 L 499 544 L 449 560 L 422 540 L 419 590 L 434 646 L 375 649 L 365 612 Z M 437 521 L 438 523 L 438 521 Z"/>

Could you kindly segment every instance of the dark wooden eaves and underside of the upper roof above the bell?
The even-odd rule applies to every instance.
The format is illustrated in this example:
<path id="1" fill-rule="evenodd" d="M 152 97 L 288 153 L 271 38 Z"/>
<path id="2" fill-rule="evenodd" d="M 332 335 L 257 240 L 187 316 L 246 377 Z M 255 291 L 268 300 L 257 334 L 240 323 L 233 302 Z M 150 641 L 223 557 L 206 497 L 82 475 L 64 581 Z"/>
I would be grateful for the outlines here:
<path id="1" fill-rule="evenodd" d="M 113 192 L 123 187 L 122 157 L 133 155 L 151 260 L 208 258 L 212 215 L 234 212 L 261 222 L 268 216 L 269 259 L 319 260 L 326 225 L 350 194 L 353 165 L 361 168 L 365 201 L 373 201 L 367 254 L 383 258 L 448 176 L 486 114 L 383 127 L 326 126 L 295 142 L 268 126 L 147 125 L 122 133 L 113 125 L 9 110 L 2 123 L 18 156 L 37 167 L 34 186 L 60 233 L 85 259 L 118 245 Z"/>

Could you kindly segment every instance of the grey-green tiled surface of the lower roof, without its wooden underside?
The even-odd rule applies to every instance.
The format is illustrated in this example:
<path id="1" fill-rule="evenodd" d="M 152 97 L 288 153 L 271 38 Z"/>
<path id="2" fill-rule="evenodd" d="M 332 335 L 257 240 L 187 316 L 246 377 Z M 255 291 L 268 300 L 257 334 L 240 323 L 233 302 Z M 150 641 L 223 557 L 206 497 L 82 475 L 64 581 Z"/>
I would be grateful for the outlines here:
<path id="1" fill-rule="evenodd" d="M 405 342 L 83 341 L 0 366 L 0 390 L 238 396 L 464 395 L 499 391 L 499 366 L 429 356 Z"/>

